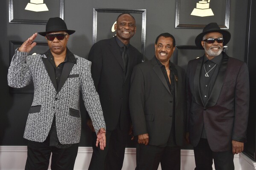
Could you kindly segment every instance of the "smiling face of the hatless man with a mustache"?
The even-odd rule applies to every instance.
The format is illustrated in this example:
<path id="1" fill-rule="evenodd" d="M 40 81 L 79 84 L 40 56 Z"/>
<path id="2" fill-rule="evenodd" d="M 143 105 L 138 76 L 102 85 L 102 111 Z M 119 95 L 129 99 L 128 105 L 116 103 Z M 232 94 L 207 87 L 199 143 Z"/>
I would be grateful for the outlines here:
<path id="1" fill-rule="evenodd" d="M 159 37 L 155 44 L 156 58 L 162 63 L 169 62 L 171 55 L 174 53 L 173 39 L 171 37 Z"/>

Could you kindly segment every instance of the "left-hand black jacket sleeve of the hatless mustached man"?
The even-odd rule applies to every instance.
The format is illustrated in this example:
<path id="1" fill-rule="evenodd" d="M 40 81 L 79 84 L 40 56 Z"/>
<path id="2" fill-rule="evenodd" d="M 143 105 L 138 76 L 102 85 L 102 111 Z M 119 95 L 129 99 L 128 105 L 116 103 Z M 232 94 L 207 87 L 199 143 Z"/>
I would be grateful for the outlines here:
<path id="1" fill-rule="evenodd" d="M 147 133 L 147 125 L 144 114 L 144 76 L 141 69 L 135 66 L 131 75 L 129 93 L 129 109 L 133 125 L 134 135 Z"/>

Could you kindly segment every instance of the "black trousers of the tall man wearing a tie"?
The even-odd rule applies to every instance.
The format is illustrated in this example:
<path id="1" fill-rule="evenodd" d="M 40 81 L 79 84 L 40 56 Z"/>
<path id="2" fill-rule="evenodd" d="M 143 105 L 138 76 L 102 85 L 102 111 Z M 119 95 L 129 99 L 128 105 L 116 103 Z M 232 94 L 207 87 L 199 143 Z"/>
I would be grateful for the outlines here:
<path id="1" fill-rule="evenodd" d="M 115 130 L 106 131 L 106 147 L 100 150 L 96 147 L 97 135 L 92 133 L 93 153 L 88 170 L 121 170 L 124 162 L 124 151 L 129 136 L 129 130 L 121 130 L 118 126 Z"/>

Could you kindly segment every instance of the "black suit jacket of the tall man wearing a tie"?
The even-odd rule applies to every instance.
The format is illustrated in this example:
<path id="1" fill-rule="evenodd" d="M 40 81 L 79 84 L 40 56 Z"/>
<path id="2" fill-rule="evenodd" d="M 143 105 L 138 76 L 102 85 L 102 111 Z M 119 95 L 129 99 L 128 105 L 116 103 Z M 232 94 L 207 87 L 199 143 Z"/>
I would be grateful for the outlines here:
<path id="1" fill-rule="evenodd" d="M 141 53 L 131 44 L 129 45 L 125 74 L 118 43 L 115 37 L 112 37 L 95 43 L 91 47 L 88 60 L 92 62 L 91 75 L 100 95 L 107 130 L 114 130 L 119 120 L 121 129 L 128 129 L 130 77 L 133 66 L 142 61 Z"/>

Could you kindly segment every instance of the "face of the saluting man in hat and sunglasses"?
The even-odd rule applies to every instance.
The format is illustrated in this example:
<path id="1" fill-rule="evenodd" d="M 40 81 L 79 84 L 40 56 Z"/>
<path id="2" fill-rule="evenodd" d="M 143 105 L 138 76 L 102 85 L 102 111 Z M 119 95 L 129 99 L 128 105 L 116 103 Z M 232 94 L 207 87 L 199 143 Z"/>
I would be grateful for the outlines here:
<path id="1" fill-rule="evenodd" d="M 50 32 L 49 34 L 68 34 L 64 31 L 58 31 L 58 32 Z M 63 40 L 58 40 L 56 37 L 53 41 L 47 40 L 48 46 L 53 53 L 53 55 L 62 55 L 65 54 L 67 51 L 67 43 L 68 43 L 69 35 L 66 35 Z"/>

